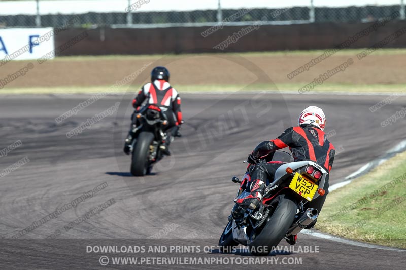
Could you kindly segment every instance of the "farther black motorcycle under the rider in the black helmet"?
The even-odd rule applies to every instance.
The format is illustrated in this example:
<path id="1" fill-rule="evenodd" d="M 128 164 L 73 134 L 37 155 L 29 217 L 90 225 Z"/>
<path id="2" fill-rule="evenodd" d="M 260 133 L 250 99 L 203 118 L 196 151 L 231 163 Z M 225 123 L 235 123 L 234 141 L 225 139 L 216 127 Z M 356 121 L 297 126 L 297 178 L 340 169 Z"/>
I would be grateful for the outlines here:
<path id="1" fill-rule="evenodd" d="M 132 142 L 128 144 L 129 152 L 132 153 L 131 174 L 144 176 L 150 174 L 152 166 L 164 156 L 161 146 L 168 138 L 164 132 L 168 120 L 155 105 L 149 105 L 135 113 L 133 118 L 135 121 L 131 127 Z"/>

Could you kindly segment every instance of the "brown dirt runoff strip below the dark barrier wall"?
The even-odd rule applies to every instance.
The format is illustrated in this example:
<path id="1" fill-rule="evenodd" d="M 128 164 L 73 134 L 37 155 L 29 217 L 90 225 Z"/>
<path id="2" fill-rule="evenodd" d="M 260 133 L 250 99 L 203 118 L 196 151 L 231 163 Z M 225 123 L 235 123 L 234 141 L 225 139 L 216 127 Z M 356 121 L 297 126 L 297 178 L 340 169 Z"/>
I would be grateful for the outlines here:
<path id="1" fill-rule="evenodd" d="M 352 64 L 329 76 L 325 82 L 360 85 L 406 83 L 403 73 L 406 54 L 370 54 L 363 59 L 358 59 L 356 53 L 335 54 L 294 78 L 288 78 L 289 73 L 320 54 L 322 52 L 83 56 L 56 58 L 42 64 L 35 60 L 11 61 L 0 67 L 0 88 L 110 86 L 134 72 L 138 75 L 137 83 L 141 84 L 149 80 L 150 70 L 157 65 L 168 67 L 174 85 L 309 83 L 321 74 L 348 63 L 350 58 Z"/>

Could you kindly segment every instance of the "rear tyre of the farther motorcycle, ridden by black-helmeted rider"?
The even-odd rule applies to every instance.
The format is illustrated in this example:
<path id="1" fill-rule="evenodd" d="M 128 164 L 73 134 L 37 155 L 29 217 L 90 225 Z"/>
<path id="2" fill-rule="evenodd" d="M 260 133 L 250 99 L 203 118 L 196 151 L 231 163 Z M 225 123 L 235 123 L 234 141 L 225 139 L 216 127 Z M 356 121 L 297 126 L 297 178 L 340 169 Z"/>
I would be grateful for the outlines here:
<path id="1" fill-rule="evenodd" d="M 153 140 L 154 134 L 151 132 L 143 131 L 138 135 L 131 159 L 131 174 L 133 176 L 144 176 L 147 174 L 149 167 L 149 146 L 152 144 Z"/>

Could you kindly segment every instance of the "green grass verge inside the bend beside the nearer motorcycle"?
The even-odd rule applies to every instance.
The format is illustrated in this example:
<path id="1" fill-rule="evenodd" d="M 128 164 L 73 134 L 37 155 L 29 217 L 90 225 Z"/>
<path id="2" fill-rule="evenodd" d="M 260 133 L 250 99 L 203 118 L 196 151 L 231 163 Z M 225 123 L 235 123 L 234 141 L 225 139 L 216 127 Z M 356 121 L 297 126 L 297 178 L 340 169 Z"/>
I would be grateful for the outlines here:
<path id="1" fill-rule="evenodd" d="M 406 248 L 406 152 L 328 195 L 316 228 L 344 238 Z"/>

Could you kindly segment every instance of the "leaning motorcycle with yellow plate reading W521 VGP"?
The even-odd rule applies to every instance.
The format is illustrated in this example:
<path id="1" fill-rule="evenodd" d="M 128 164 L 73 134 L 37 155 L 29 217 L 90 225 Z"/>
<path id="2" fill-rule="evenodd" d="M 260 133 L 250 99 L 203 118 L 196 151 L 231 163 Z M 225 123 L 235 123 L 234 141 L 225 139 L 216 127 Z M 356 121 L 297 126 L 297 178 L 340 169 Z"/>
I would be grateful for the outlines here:
<path id="1" fill-rule="evenodd" d="M 283 151 L 276 153 L 283 157 L 278 158 L 281 162 L 289 155 Z M 278 160 L 276 156 L 274 161 Z M 328 172 L 313 161 L 293 162 L 291 156 L 287 159 L 292 162 L 283 163 L 274 179 L 269 179 L 259 207 L 251 210 L 234 205 L 219 240 L 220 251 L 231 252 L 242 244 L 248 246 L 253 255 L 266 256 L 282 239 L 297 235 L 316 220 L 317 209 L 308 208 L 307 203 L 324 196 L 323 186 Z M 235 176 L 231 179 L 240 184 L 236 198 L 249 194 L 249 168 L 250 165 L 241 181 Z"/>

